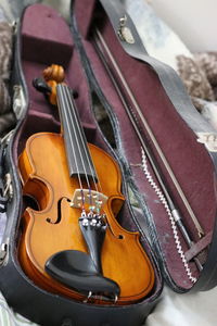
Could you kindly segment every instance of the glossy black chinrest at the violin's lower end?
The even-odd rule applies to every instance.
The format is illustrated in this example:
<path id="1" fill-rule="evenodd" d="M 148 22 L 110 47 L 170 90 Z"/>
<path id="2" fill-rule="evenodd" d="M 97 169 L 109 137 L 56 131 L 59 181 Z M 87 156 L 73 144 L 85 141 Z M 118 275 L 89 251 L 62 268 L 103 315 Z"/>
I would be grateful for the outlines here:
<path id="1" fill-rule="evenodd" d="M 118 285 L 100 274 L 92 259 L 85 252 L 64 250 L 53 254 L 46 263 L 46 272 L 78 292 L 116 297 Z"/>

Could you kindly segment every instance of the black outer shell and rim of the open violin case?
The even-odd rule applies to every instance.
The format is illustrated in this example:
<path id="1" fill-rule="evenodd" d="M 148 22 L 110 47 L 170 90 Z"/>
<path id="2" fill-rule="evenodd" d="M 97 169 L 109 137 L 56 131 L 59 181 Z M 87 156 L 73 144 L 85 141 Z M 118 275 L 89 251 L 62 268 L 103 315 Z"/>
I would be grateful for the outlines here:
<path id="1" fill-rule="evenodd" d="M 118 28 L 119 17 L 125 13 L 124 7 L 116 1 L 100 1 L 110 16 L 112 24 L 115 29 Z M 72 8 L 74 5 L 74 1 L 72 1 Z M 22 20 L 21 20 L 22 22 Z M 94 74 L 89 65 L 88 58 L 82 49 L 80 42 L 80 35 L 78 34 L 75 17 L 72 20 L 72 34 L 74 35 L 74 41 L 76 43 L 75 51 L 79 52 L 80 60 L 86 73 L 86 77 L 91 85 L 92 88 L 99 87 Z M 126 43 L 122 43 L 125 48 L 125 51 L 139 60 L 142 60 L 149 63 L 155 72 L 158 74 L 159 79 L 165 88 L 165 91 L 169 96 L 170 100 L 174 102 L 175 106 L 179 111 L 179 114 L 186 114 L 186 106 L 191 106 L 189 98 L 186 95 L 186 91 L 182 88 L 182 85 L 179 82 L 179 78 L 175 75 L 170 70 L 165 71 L 165 66 L 162 67 L 161 63 L 150 59 L 141 45 L 139 36 L 135 29 L 133 24 L 128 17 L 128 23 L 130 24 L 130 28 L 133 30 L 133 35 L 137 36 L 136 46 L 133 47 L 133 51 L 131 47 L 128 47 Z M 21 63 L 21 37 L 20 29 L 17 32 L 16 41 L 15 41 L 15 55 L 14 55 L 14 70 L 13 70 L 13 84 L 22 85 L 24 89 L 24 95 L 27 100 L 27 106 L 29 103 L 27 87 L 25 83 L 25 77 L 22 72 L 22 63 Z M 169 78 L 168 78 L 169 76 Z M 168 84 L 168 80 L 173 80 L 171 85 Z M 94 84 L 94 87 L 93 87 Z M 176 97 L 176 90 L 179 89 L 179 96 Z M 182 104 L 180 104 L 180 97 L 183 99 Z M 102 100 L 103 101 L 103 100 Z M 179 103 L 181 106 L 177 105 Z M 106 105 L 106 102 L 105 102 Z M 192 115 L 192 117 L 191 117 Z M 114 118 L 115 117 L 111 117 Z M 22 123 L 25 121 L 25 114 L 22 121 L 18 123 L 14 136 L 10 140 L 5 150 L 4 158 L 4 170 L 5 173 L 10 173 L 12 176 L 12 187 L 13 187 L 13 197 L 10 199 L 8 203 L 8 221 L 7 227 L 3 236 L 3 243 L 5 243 L 5 256 L 2 260 L 1 268 L 0 268 L 0 288 L 5 297 L 9 304 L 18 313 L 26 316 L 30 321 L 35 323 L 39 323 L 40 325 L 46 326 L 60 326 L 60 325 L 68 325 L 68 326 L 140 326 L 144 323 L 149 313 L 153 310 L 155 304 L 159 299 L 159 294 L 163 288 L 163 279 L 162 272 L 159 271 L 159 264 L 156 262 L 155 255 L 153 254 L 153 264 L 155 265 L 156 273 L 156 283 L 151 296 L 143 301 L 130 305 L 125 306 L 98 306 L 89 303 L 76 302 L 74 300 L 69 300 L 56 294 L 49 293 L 40 288 L 38 288 L 30 279 L 26 277 L 24 272 L 22 271 L 20 263 L 17 261 L 17 238 L 18 238 L 18 225 L 20 225 L 20 215 L 22 210 L 22 188 L 20 184 L 20 178 L 16 170 L 16 162 L 14 162 L 13 156 L 13 147 L 15 141 L 15 136 L 20 131 Z M 197 128 L 196 121 L 194 118 L 193 111 L 190 109 L 189 122 L 191 127 L 195 130 Z M 98 129 L 97 121 L 93 118 L 92 123 L 95 125 Z M 203 121 L 200 121 L 200 126 L 204 131 L 208 130 L 207 124 Z M 111 147 L 108 147 L 106 140 L 103 138 L 102 133 L 99 131 L 99 137 L 101 141 L 104 142 L 107 151 L 112 153 L 116 160 L 123 164 L 123 162 L 118 159 L 118 153 L 113 152 Z M 216 153 L 210 153 L 212 159 L 214 160 L 215 166 L 217 166 L 217 158 Z M 126 173 L 126 168 L 124 165 L 120 165 L 123 173 Z M 126 185 L 124 181 L 124 193 L 128 197 L 126 191 Z M 145 228 L 146 223 L 142 218 L 141 214 L 132 211 L 129 208 L 132 220 L 136 218 L 139 225 L 139 228 Z M 137 216 L 136 216 L 137 215 Z M 212 246 L 209 248 L 208 260 L 205 265 L 203 273 L 201 274 L 200 280 L 193 287 L 196 290 L 207 290 L 213 288 L 217 284 L 217 243 L 216 243 L 216 226 L 214 229 L 214 239 Z M 149 244 L 146 244 L 149 247 Z M 154 248 L 155 250 L 156 248 Z M 157 253 L 159 256 L 161 253 Z M 161 260 L 159 260 L 161 261 Z M 162 265 L 161 265 L 162 266 Z M 162 266 L 164 269 L 164 267 Z M 178 289 L 175 284 L 173 284 L 173 279 L 165 273 L 165 278 L 170 283 L 170 286 L 175 288 L 177 291 L 184 291 L 183 289 Z"/>

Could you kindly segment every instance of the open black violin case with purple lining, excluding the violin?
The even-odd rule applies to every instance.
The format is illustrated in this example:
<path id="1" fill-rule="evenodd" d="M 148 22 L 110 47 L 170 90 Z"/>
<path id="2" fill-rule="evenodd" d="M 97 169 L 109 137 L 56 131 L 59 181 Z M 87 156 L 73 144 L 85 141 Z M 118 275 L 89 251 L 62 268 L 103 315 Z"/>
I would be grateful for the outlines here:
<path id="1" fill-rule="evenodd" d="M 25 9 L 14 35 L 17 126 L 1 143 L 1 211 L 7 222 L 0 289 L 10 306 L 47 326 L 89 326 L 90 321 L 95 326 L 139 326 L 158 302 L 164 281 L 180 293 L 216 286 L 217 134 L 194 109 L 176 72 L 148 55 L 125 1 L 72 1 L 69 26 L 53 9 L 34 4 Z M 88 141 L 119 164 L 126 200 L 118 223 L 139 231 L 155 277 L 139 302 L 76 301 L 41 289 L 21 267 L 24 201 L 17 159 L 33 134 L 60 131 L 58 112 L 33 87 L 33 78 L 53 63 L 64 66 L 77 92 Z M 174 208 L 182 224 L 171 214 Z"/>

